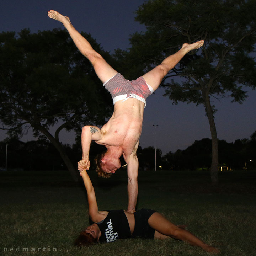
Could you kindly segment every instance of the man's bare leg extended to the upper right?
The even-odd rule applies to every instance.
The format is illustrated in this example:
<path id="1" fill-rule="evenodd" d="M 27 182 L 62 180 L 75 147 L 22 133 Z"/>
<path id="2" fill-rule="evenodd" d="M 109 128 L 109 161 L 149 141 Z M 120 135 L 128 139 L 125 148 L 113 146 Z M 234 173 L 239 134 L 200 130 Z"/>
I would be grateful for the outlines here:
<path id="1" fill-rule="evenodd" d="M 193 44 L 183 44 L 182 48 L 178 52 L 170 55 L 164 59 L 160 65 L 156 66 L 154 69 L 143 75 L 146 83 L 150 85 L 154 91 L 158 89 L 162 79 L 167 75 L 167 73 L 173 69 L 188 52 L 200 48 L 203 46 L 203 44 L 203 40 Z"/>

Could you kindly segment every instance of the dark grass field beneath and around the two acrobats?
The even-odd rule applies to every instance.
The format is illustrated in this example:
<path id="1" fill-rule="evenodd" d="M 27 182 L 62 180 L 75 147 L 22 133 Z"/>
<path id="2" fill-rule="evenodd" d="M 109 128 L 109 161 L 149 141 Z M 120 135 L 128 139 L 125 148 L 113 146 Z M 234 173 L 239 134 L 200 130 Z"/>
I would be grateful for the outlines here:
<path id="1" fill-rule="evenodd" d="M 89 171 L 100 210 L 126 209 L 127 174 L 109 180 Z M 151 208 L 221 250 L 256 255 L 256 171 L 219 173 L 212 187 L 206 171 L 139 173 L 137 209 Z M 208 255 L 174 239 L 117 240 L 78 249 L 72 245 L 89 224 L 86 193 L 66 171 L 0 173 L 0 255 Z M 26 248 L 23 251 L 23 248 Z"/>

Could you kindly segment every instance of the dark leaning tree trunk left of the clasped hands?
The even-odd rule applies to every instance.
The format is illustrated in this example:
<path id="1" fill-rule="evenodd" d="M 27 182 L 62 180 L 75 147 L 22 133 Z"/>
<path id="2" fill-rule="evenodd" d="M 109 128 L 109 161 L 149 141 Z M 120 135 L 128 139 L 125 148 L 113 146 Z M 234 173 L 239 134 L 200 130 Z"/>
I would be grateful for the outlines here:
<path id="1" fill-rule="evenodd" d="M 60 142 L 53 137 L 52 134 L 48 132 L 47 129 L 45 129 L 41 124 L 37 126 L 37 129 L 42 132 L 46 137 L 50 140 L 50 142 L 55 146 L 55 148 L 59 151 L 59 154 L 64 161 L 66 167 L 69 170 L 69 173 L 71 177 L 73 178 L 74 181 L 78 182 L 78 171 L 75 170 L 73 164 L 71 163 L 68 155 L 66 154 L 65 150 L 63 149 L 62 145 Z"/>

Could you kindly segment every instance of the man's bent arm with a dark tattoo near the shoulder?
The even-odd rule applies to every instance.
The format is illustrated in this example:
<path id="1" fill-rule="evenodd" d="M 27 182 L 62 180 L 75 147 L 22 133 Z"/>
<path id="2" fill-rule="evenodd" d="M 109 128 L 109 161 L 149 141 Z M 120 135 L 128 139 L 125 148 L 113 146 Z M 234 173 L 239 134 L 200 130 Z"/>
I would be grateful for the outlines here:
<path id="1" fill-rule="evenodd" d="M 101 130 L 96 126 L 84 126 L 82 128 L 82 134 L 81 134 L 82 159 L 85 160 L 84 161 L 85 163 L 87 163 L 87 165 L 84 166 L 85 170 L 89 170 L 90 168 L 89 151 L 90 151 L 91 141 L 101 140 L 102 137 L 103 135 L 101 133 Z"/>

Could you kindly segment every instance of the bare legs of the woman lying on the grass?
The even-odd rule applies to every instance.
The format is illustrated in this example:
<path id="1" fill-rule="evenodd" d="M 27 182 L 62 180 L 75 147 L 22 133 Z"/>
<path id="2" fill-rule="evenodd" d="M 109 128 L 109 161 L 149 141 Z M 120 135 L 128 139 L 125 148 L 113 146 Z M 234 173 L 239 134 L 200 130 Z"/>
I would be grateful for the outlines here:
<path id="1" fill-rule="evenodd" d="M 164 239 L 169 237 L 186 241 L 191 245 L 199 246 L 207 252 L 219 253 L 219 250 L 205 244 L 202 240 L 191 234 L 189 231 L 184 229 L 184 226 L 178 227 L 172 224 L 160 213 L 153 213 L 148 219 L 148 224 L 153 228 L 155 232 L 155 238 Z"/>

